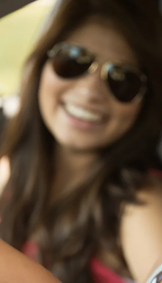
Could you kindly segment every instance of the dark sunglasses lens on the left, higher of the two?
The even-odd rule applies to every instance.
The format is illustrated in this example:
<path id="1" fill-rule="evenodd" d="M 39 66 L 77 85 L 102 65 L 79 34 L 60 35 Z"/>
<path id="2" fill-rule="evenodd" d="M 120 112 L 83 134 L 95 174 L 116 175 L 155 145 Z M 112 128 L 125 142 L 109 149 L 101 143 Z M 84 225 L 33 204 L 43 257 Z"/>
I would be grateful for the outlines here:
<path id="1" fill-rule="evenodd" d="M 93 63 L 94 58 L 80 46 L 65 44 L 56 53 L 53 67 L 56 74 L 70 79 L 83 75 Z"/>

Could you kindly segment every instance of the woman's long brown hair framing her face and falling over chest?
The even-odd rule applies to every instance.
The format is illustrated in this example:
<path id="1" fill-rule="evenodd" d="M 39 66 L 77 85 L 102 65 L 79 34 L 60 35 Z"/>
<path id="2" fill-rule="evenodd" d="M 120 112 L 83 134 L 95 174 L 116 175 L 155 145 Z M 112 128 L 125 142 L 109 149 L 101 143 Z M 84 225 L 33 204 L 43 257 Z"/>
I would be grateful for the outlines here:
<path id="1" fill-rule="evenodd" d="M 111 18 L 137 53 L 148 76 L 143 109 L 124 137 L 101 153 L 89 176 L 51 204 L 54 137 L 38 108 L 38 87 L 47 51 L 90 15 Z M 5 191 L 11 197 L 2 214 L 0 234 L 18 250 L 38 231 L 42 264 L 64 283 L 90 282 L 89 261 L 104 251 L 122 258 L 118 245 L 121 202 L 136 202 L 156 151 L 162 125 L 162 22 L 155 1 L 62 0 L 48 29 L 27 61 L 21 110 L 8 128 L 1 151 L 10 159 Z M 102 183 L 94 189 L 98 176 Z M 3 198 L 2 198 L 3 199 Z M 1 201 L 3 206 L 3 201 Z M 41 237 L 42 235 L 42 237 Z M 117 265 L 117 271 L 124 268 Z"/>

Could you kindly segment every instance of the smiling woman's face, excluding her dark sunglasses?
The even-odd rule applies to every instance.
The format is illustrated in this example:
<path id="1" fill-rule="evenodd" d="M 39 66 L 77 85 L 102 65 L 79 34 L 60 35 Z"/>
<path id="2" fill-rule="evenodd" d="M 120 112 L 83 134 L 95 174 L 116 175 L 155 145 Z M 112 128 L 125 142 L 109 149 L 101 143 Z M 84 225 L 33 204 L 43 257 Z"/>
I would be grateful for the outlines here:
<path id="1" fill-rule="evenodd" d="M 132 127 L 142 102 L 116 100 L 101 79 L 102 64 L 121 60 L 138 67 L 136 55 L 112 25 L 100 25 L 94 19 L 74 31 L 68 40 L 97 54 L 100 66 L 93 74 L 62 79 L 48 60 L 39 88 L 43 121 L 62 146 L 75 150 L 108 146 Z"/>

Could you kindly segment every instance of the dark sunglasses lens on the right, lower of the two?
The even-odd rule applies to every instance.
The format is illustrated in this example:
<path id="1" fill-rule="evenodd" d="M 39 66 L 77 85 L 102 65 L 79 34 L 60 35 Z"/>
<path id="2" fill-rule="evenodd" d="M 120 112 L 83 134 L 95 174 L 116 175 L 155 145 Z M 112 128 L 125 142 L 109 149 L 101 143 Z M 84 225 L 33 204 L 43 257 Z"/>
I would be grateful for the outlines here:
<path id="1" fill-rule="evenodd" d="M 139 93 L 142 82 L 131 70 L 111 65 L 108 70 L 108 85 L 113 95 L 121 102 L 130 102 Z"/>

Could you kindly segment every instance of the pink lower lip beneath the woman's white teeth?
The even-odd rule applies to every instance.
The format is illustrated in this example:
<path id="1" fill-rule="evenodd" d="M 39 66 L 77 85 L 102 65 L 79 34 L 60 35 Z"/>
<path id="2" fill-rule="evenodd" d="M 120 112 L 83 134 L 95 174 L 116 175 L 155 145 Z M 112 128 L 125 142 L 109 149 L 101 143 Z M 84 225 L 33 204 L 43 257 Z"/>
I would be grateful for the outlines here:
<path id="1" fill-rule="evenodd" d="M 66 113 L 66 116 L 73 126 L 84 129 L 84 130 L 90 130 L 90 129 L 95 129 L 98 126 L 101 126 L 103 124 L 103 121 L 101 122 L 88 122 L 85 120 L 82 120 L 80 118 L 76 118 L 75 116 L 71 115 L 69 112 L 67 112 L 64 108 L 64 111 Z"/>

